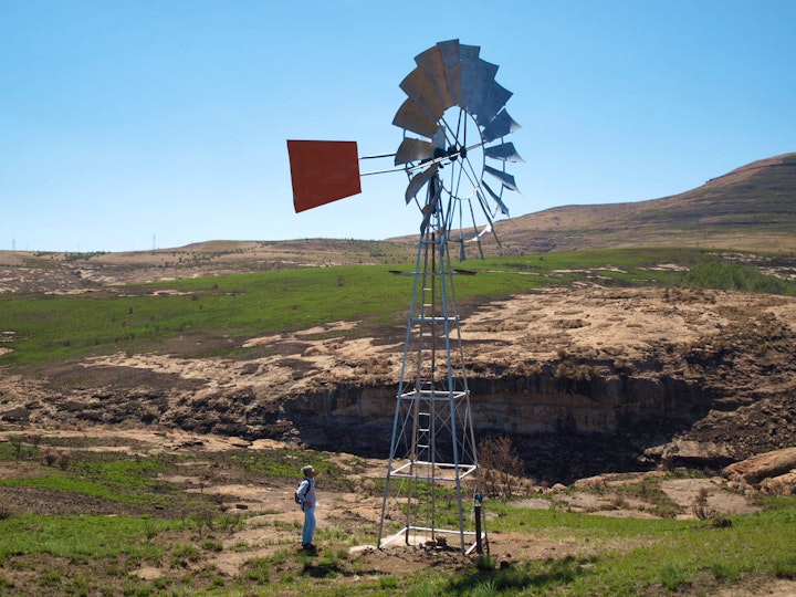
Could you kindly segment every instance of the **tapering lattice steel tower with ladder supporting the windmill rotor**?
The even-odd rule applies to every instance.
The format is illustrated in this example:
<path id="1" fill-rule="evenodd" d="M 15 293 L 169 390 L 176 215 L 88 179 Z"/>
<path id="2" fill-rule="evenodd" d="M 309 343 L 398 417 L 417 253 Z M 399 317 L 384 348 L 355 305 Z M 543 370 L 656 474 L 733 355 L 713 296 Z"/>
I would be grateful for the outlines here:
<path id="1" fill-rule="evenodd" d="M 479 465 L 448 244 L 452 213 L 439 185 L 428 186 L 418 243 L 378 544 L 441 545 L 452 535 L 469 552 L 485 533 L 465 511 L 480 493 Z M 385 537 L 390 523 L 400 530 Z"/>

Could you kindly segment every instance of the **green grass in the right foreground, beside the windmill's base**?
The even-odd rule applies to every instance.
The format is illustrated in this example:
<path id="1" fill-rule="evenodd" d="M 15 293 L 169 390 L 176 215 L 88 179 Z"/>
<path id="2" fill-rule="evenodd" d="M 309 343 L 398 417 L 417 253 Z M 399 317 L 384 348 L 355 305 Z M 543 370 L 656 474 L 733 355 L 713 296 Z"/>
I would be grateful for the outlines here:
<path id="1" fill-rule="evenodd" d="M 708 593 L 705 584 L 758 586 L 761 579 L 796 578 L 796 556 L 783 545 L 796 541 L 796 500 L 777 499 L 763 512 L 732 517 L 716 528 L 705 521 L 614 519 L 556 510 L 491 504 L 498 520 L 490 530 L 526 533 L 538 542 L 559 542 L 561 557 L 504 562 L 432 578 L 420 572 L 402 582 L 408 595 L 642 595 Z M 569 553 L 567 553 L 569 552 Z M 479 565 L 480 563 L 480 565 Z M 509 564 L 509 565 L 506 565 Z M 353 593 L 357 595 L 357 593 Z M 690 593 L 689 593 L 690 594 Z"/>

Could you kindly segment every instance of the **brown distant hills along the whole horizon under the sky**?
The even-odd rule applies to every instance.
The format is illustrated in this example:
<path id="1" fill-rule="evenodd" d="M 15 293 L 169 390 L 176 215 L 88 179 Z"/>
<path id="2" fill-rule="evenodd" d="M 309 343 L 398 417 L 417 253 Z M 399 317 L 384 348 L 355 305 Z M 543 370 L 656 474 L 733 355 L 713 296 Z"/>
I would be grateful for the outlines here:
<path id="1" fill-rule="evenodd" d="M 495 229 L 501 244 L 485 238 L 485 255 L 642 245 L 796 251 L 796 154 L 752 163 L 672 197 L 559 207 L 496 222 Z M 208 241 L 121 253 L 0 251 L 0 293 L 70 292 L 286 268 L 406 263 L 416 254 L 416 239 Z"/>

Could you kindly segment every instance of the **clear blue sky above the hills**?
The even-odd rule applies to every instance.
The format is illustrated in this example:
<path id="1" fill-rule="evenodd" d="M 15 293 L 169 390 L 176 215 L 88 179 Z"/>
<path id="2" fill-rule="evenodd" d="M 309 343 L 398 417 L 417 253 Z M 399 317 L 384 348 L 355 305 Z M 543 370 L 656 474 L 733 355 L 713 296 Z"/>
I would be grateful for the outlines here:
<path id="1" fill-rule="evenodd" d="M 285 140 L 395 151 L 398 84 L 451 39 L 514 93 L 512 216 L 682 192 L 796 150 L 795 22 L 792 0 L 2 0 L 0 250 L 413 233 L 402 174 L 296 214 Z"/>

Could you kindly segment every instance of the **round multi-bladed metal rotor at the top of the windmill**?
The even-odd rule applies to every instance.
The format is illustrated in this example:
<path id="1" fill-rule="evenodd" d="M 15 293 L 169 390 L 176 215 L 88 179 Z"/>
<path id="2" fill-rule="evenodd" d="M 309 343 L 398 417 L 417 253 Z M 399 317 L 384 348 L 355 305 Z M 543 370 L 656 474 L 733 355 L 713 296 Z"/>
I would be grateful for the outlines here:
<path id="1" fill-rule="evenodd" d="M 449 241 L 461 243 L 462 260 L 464 243 L 478 243 L 483 254 L 481 238 L 494 234 L 499 214 L 509 216 L 503 193 L 517 186 L 506 165 L 523 161 L 505 140 L 520 128 L 505 109 L 512 92 L 495 81 L 499 67 L 479 54 L 479 46 L 458 40 L 418 54 L 417 66 L 399 85 L 407 100 L 392 119 L 404 129 L 395 166 L 409 178 L 407 202 L 422 207 L 421 190 L 436 181 L 439 199 L 454 214 L 458 232 L 449 231 Z"/>

